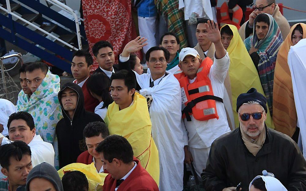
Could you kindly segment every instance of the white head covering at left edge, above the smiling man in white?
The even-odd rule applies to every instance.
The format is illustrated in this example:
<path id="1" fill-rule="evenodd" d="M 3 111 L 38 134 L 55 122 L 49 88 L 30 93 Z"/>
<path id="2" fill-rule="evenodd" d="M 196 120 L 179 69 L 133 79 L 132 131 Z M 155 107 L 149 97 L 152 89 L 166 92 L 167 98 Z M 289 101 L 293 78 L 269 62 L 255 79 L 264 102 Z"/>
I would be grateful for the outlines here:
<path id="1" fill-rule="evenodd" d="M 2 131 L 3 136 L 9 135 L 7 128 L 7 120 L 12 113 L 17 112 L 15 105 L 9 100 L 0 98 L 0 124 L 3 125 L 4 130 Z"/>

